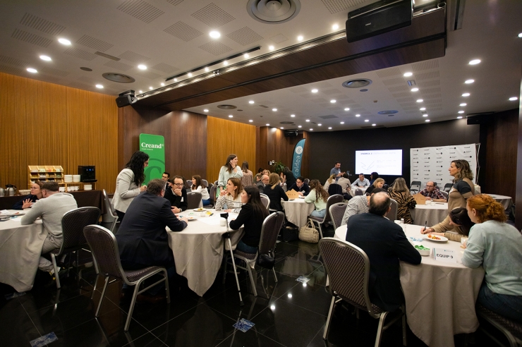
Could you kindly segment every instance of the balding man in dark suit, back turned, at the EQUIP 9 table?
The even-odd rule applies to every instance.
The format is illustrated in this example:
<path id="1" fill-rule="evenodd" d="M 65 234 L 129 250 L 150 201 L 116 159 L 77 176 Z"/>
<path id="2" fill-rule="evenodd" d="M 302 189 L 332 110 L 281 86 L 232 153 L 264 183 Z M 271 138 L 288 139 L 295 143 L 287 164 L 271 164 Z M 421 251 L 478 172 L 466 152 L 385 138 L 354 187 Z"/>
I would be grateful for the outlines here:
<path id="1" fill-rule="evenodd" d="M 384 217 L 391 209 L 387 193 L 370 197 L 370 212 L 348 219 L 346 241 L 366 252 L 370 259 L 370 300 L 393 311 L 403 303 L 399 260 L 420 264 L 420 253 L 409 243 L 401 226 Z"/>

